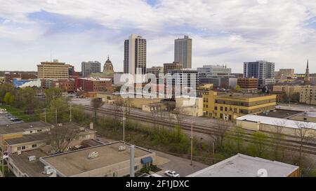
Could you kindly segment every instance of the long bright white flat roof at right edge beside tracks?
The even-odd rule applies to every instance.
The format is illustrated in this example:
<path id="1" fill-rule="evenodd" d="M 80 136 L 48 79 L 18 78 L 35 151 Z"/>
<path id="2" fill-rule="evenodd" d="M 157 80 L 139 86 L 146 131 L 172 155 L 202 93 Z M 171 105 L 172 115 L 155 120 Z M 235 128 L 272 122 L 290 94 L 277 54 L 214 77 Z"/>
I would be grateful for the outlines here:
<path id="1" fill-rule="evenodd" d="M 316 129 L 315 122 L 303 122 L 298 120 L 288 120 L 282 118 L 271 118 L 260 115 L 244 115 L 236 119 L 237 121 L 249 121 L 249 122 L 260 122 L 266 125 L 282 126 L 294 129 L 300 129 L 301 127 L 307 129 Z"/>

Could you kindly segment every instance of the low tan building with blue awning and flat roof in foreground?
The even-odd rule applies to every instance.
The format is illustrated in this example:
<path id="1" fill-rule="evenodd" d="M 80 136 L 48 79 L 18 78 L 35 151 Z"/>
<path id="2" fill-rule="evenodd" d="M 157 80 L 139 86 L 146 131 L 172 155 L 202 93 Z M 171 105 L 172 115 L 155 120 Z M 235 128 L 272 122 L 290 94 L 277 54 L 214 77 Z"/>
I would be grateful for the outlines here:
<path id="1" fill-rule="evenodd" d="M 55 169 L 60 177 L 114 177 L 126 176 L 130 172 L 129 144 L 121 141 L 76 150 L 59 155 L 42 157 L 40 161 Z M 121 150 L 121 148 L 124 150 Z M 98 153 L 97 157 L 88 157 Z M 154 164 L 155 153 L 135 147 L 135 171 Z"/>

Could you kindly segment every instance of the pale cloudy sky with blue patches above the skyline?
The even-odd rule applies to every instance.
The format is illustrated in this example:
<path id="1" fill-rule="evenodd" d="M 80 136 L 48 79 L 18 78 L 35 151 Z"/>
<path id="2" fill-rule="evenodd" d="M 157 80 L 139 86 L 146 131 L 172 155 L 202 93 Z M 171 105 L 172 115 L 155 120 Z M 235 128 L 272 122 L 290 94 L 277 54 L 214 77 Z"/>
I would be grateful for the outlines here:
<path id="1" fill-rule="evenodd" d="M 122 71 L 124 39 L 147 38 L 147 66 L 173 62 L 175 38 L 193 38 L 192 66 L 265 59 L 316 72 L 315 0 L 0 0 L 0 71 L 37 70 L 59 59 Z"/>

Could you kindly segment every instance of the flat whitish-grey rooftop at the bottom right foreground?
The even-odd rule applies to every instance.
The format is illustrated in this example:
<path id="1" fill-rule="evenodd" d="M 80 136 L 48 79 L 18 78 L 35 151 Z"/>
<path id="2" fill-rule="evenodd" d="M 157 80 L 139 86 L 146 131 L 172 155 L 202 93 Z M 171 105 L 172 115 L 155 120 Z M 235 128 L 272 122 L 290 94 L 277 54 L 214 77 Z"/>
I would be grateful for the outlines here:
<path id="1" fill-rule="evenodd" d="M 291 164 L 237 154 L 187 177 L 258 177 L 259 169 L 267 170 L 268 177 L 287 177 L 298 168 Z"/>

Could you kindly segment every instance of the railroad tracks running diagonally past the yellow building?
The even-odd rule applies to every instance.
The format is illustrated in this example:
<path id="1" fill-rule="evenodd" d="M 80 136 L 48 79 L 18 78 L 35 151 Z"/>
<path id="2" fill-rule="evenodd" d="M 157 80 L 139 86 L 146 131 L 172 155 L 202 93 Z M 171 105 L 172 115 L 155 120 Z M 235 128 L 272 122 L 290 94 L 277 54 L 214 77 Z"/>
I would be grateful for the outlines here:
<path id="1" fill-rule="evenodd" d="M 84 106 L 84 108 L 87 111 L 94 111 L 94 108 L 91 106 Z M 117 115 L 117 117 L 122 118 L 123 117 L 123 112 L 121 111 L 114 111 L 114 109 L 110 108 L 99 108 L 98 113 L 104 113 L 106 115 Z M 140 114 L 133 114 L 133 113 L 127 113 L 126 118 L 131 118 L 133 120 L 140 120 L 142 122 L 150 122 L 154 123 L 156 125 L 163 125 L 165 127 L 172 127 L 174 128 L 176 125 L 178 125 L 178 122 L 175 122 L 175 120 L 164 120 L 162 118 L 152 118 L 150 115 L 140 115 Z M 237 137 L 235 133 L 232 130 L 233 126 L 230 126 L 230 129 L 228 129 L 225 134 L 230 136 L 232 139 L 237 139 L 240 137 Z M 191 131 L 191 123 L 188 122 L 182 122 L 181 123 L 181 129 Z M 212 125 L 206 126 L 206 125 L 198 125 L 194 124 L 193 125 L 193 132 L 201 133 L 201 134 L 209 134 L 209 135 L 220 135 L 221 132 L 218 131 L 216 127 L 213 127 Z M 255 131 L 243 129 L 242 132 L 242 139 L 246 142 L 249 143 L 256 143 L 256 140 L 251 136 Z M 269 134 L 269 132 L 265 132 Z M 275 146 L 275 143 L 273 141 L 274 138 L 271 136 L 268 136 L 268 140 L 263 143 L 265 146 Z M 285 150 L 291 150 L 291 151 L 296 151 L 299 152 L 300 150 L 300 142 L 294 140 L 294 136 L 287 136 L 286 138 L 282 139 L 279 143 L 279 148 L 283 148 Z M 308 153 L 312 155 L 316 155 L 316 144 L 315 143 L 308 143 L 305 142 L 303 143 L 302 146 L 302 153 Z"/>

